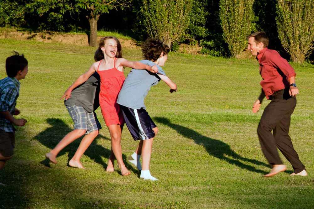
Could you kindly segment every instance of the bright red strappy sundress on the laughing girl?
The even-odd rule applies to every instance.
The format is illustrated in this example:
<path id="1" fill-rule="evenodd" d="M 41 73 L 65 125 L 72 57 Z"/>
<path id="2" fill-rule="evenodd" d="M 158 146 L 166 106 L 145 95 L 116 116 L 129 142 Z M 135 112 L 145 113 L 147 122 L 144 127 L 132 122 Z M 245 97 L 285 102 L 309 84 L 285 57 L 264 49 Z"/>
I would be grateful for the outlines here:
<path id="1" fill-rule="evenodd" d="M 116 69 L 116 58 L 114 60 L 114 67 L 108 70 L 98 70 L 101 62 L 102 60 L 100 60 L 97 67 L 97 72 L 100 76 L 99 104 L 101 113 L 106 122 L 106 126 L 115 124 L 122 125 L 124 119 L 120 111 L 120 106 L 117 104 L 117 98 L 125 76 L 123 72 Z"/>

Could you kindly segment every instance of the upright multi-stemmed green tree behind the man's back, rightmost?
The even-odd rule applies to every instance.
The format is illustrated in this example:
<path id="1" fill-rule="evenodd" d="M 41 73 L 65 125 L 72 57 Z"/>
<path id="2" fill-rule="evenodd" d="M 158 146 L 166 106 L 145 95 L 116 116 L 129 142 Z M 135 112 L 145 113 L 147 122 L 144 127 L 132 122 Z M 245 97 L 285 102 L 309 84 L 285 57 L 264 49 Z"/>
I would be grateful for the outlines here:
<path id="1" fill-rule="evenodd" d="M 278 34 L 294 62 L 302 63 L 314 49 L 314 0 L 278 0 Z"/>

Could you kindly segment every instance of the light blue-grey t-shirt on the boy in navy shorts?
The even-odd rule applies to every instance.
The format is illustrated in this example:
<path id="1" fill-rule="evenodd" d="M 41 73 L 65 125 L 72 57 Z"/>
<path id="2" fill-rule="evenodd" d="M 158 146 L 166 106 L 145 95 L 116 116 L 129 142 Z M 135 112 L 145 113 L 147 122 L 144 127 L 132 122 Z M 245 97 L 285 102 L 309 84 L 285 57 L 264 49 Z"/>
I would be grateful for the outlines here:
<path id="1" fill-rule="evenodd" d="M 140 62 L 150 66 L 156 65 L 149 60 L 141 60 Z M 157 65 L 157 68 L 158 74 L 166 75 L 160 66 Z M 157 73 L 132 69 L 123 83 L 117 103 L 133 109 L 145 109 L 144 99 L 150 90 L 150 86 L 157 85 L 159 81 L 160 77 Z"/>

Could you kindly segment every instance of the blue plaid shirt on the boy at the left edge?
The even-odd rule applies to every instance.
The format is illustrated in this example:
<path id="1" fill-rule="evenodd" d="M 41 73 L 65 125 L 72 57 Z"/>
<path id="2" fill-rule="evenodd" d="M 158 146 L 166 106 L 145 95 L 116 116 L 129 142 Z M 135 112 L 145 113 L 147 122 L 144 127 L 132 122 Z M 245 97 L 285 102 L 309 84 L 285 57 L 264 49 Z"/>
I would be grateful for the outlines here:
<path id="1" fill-rule="evenodd" d="M 0 80 L 0 112 L 15 112 L 16 100 L 19 97 L 20 82 L 16 78 L 6 77 Z M 0 115 L 0 129 L 5 132 L 14 132 L 12 123 Z"/>

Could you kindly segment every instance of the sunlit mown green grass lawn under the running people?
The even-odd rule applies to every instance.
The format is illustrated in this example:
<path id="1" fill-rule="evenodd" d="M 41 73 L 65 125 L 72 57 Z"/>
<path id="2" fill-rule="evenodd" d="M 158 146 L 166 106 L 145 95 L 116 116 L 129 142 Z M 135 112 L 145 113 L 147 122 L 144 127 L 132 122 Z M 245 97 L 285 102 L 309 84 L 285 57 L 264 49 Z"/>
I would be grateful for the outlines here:
<path id="1" fill-rule="evenodd" d="M 256 128 L 262 111 L 251 112 L 260 92 L 256 60 L 234 60 L 170 53 L 164 67 L 178 85 L 151 88 L 146 106 L 160 129 L 153 144 L 151 173 L 159 181 L 106 173 L 110 135 L 103 129 L 82 157 L 86 170 L 67 166 L 80 140 L 66 147 L 51 165 L 44 154 L 72 130 L 60 97 L 93 63 L 94 48 L 0 39 L 0 78 L 12 50 L 24 53 L 29 73 L 21 81 L 17 108 L 28 120 L 16 132 L 14 159 L 0 172 L 0 208 L 314 208 L 314 68 L 293 65 L 300 89 L 290 135 L 309 176 L 288 171 L 264 178 L 270 167 Z M 124 57 L 140 60 L 137 49 Z M 129 69 L 125 71 L 127 72 Z M 124 159 L 137 143 L 122 133 Z"/>

